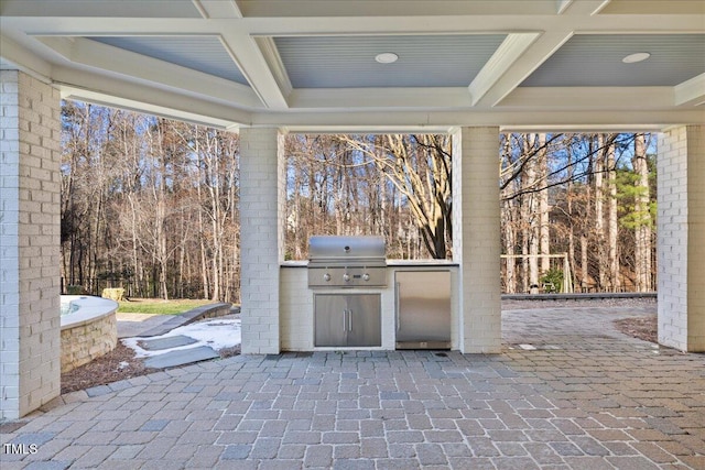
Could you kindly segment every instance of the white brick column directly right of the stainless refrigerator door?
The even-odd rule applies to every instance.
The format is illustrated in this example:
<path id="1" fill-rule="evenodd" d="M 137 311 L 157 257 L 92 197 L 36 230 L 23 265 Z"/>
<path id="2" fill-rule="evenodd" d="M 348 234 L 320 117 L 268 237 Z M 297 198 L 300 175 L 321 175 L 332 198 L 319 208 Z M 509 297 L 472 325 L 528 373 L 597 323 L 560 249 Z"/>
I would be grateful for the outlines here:
<path id="1" fill-rule="evenodd" d="M 453 136 L 453 259 L 459 263 L 459 347 L 501 351 L 499 129 Z"/>

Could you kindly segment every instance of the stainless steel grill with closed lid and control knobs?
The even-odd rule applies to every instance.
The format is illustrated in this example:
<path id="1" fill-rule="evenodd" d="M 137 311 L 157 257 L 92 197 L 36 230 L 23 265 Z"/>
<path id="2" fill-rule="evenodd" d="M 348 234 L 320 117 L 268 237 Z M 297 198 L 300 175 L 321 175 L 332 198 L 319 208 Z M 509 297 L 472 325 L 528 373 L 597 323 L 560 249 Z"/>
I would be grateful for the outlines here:
<path id="1" fill-rule="evenodd" d="M 318 236 L 308 240 L 308 287 L 386 287 L 382 237 Z"/>

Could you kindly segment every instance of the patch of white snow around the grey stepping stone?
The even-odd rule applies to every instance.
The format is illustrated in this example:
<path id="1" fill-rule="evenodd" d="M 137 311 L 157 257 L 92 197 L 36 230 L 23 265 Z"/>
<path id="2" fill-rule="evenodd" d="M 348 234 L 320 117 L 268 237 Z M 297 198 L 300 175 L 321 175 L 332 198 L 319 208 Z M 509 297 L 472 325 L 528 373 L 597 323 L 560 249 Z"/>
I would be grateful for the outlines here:
<path id="1" fill-rule="evenodd" d="M 139 347 L 139 341 L 158 339 L 158 338 L 169 338 L 172 336 L 187 336 L 196 340 L 196 342 L 181 346 L 177 348 L 170 349 L 161 349 L 148 351 Z M 167 334 L 162 336 L 153 336 L 149 338 L 144 337 L 135 337 L 135 338 L 124 338 L 122 339 L 122 343 L 128 348 L 131 348 L 137 353 L 138 358 L 149 358 L 152 356 L 164 354 L 170 351 L 178 351 L 197 348 L 199 346 L 209 346 L 216 351 L 225 348 L 232 348 L 238 346 L 242 340 L 241 336 L 241 323 L 240 319 L 218 319 L 214 318 L 212 320 L 199 321 L 191 325 L 184 325 L 183 327 L 174 328 Z"/>

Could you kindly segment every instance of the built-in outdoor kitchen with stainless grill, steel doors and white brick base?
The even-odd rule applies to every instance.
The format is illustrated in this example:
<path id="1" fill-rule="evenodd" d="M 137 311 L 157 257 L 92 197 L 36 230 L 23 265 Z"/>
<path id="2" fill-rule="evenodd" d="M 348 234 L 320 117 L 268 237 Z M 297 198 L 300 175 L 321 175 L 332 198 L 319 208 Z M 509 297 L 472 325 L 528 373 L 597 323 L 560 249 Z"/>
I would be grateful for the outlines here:
<path id="1" fill-rule="evenodd" d="M 312 241 L 307 261 L 281 265 L 281 350 L 458 348 L 457 264 L 387 260 L 375 238 Z"/>

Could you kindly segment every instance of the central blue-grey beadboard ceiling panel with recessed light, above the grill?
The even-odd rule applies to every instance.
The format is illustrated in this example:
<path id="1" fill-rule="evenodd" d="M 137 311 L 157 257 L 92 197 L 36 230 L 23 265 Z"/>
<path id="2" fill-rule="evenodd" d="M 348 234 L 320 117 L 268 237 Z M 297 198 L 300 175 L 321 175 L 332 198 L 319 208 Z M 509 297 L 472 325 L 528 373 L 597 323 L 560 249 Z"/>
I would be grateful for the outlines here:
<path id="1" fill-rule="evenodd" d="M 466 87 L 503 34 L 275 37 L 294 88 Z M 399 61 L 379 64 L 375 56 Z"/>

